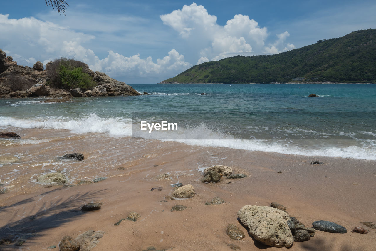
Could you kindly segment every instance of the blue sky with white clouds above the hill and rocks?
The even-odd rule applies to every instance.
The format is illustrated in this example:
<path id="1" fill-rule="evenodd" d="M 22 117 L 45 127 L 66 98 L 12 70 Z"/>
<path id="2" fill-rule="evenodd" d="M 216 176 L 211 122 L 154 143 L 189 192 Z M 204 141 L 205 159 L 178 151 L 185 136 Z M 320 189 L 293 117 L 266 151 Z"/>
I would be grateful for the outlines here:
<path id="1" fill-rule="evenodd" d="M 376 28 L 374 0 L 3 1 L 0 49 L 19 65 L 56 58 L 132 83 L 159 83 L 236 55 L 276 54 Z"/>

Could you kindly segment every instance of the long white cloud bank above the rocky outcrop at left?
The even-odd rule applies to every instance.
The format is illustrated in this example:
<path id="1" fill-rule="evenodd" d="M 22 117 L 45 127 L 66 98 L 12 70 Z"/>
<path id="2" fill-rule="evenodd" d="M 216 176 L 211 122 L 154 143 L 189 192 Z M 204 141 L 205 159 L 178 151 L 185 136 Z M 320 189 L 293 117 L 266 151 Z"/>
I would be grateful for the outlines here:
<path id="1" fill-rule="evenodd" d="M 107 57 L 100 59 L 85 46 L 86 42 L 95 39 L 94 35 L 75 32 L 33 17 L 9 19 L 9 15 L 0 14 L 0 30 L 2 49 L 22 65 L 32 66 L 38 60 L 46 64 L 55 58 L 68 57 L 123 81 L 139 81 L 143 77 L 148 81 L 160 81 L 192 66 L 175 49 L 156 62 L 152 57 L 143 59 L 140 54 L 126 57 L 114 51 L 109 51 Z"/>

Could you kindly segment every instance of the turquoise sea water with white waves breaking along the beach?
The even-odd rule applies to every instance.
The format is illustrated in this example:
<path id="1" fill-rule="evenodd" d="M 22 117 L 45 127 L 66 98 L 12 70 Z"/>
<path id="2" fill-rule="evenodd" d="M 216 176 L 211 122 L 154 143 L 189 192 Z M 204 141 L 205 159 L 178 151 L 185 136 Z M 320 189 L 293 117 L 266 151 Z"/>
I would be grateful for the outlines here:
<path id="1" fill-rule="evenodd" d="M 74 98 L 65 103 L 40 102 L 44 98 L 1 99 L 0 130 L 9 126 L 66 129 L 376 160 L 375 84 L 131 86 L 152 95 Z M 310 93 L 319 97 L 307 97 Z M 141 132 L 137 130 L 140 120 L 176 122 L 179 130 Z"/>

